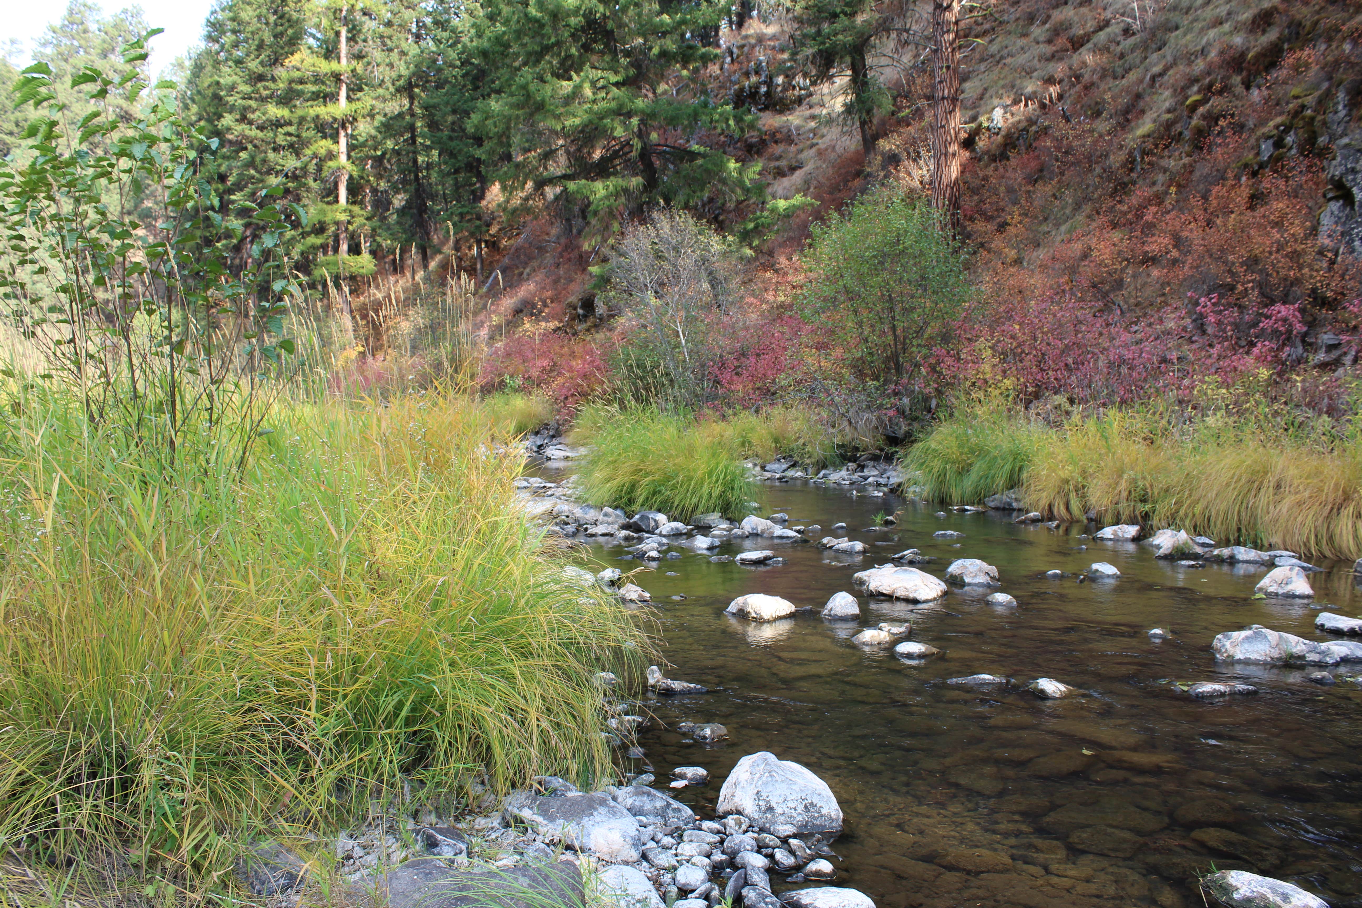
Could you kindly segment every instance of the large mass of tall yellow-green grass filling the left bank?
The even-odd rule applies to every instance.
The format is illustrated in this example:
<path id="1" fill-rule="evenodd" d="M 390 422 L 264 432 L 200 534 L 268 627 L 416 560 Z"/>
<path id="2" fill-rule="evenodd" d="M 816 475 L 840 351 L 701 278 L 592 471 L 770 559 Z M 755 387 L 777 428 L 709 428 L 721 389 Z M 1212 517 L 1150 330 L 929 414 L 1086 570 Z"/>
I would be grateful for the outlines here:
<path id="1" fill-rule="evenodd" d="M 488 453 L 496 412 L 282 402 L 241 472 L 204 436 L 163 474 L 76 399 L 16 410 L 0 426 L 11 858 L 108 849 L 129 881 L 200 893 L 259 828 L 324 830 L 484 773 L 501 790 L 612 775 L 594 675 L 636 671 L 648 640 L 563 579 L 511 493 L 519 460 Z"/>

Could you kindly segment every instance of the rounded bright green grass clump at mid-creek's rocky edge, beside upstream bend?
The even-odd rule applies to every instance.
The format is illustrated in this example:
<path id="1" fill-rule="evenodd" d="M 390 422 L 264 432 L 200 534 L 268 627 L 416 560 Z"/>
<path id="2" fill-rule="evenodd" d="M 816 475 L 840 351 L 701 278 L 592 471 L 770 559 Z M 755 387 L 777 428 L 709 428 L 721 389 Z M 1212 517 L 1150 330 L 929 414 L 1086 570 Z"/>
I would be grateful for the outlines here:
<path id="1" fill-rule="evenodd" d="M 733 445 L 701 433 L 691 417 L 595 406 L 579 415 L 575 436 L 591 445 L 577 475 L 595 505 L 685 520 L 745 513 L 756 493 Z"/>

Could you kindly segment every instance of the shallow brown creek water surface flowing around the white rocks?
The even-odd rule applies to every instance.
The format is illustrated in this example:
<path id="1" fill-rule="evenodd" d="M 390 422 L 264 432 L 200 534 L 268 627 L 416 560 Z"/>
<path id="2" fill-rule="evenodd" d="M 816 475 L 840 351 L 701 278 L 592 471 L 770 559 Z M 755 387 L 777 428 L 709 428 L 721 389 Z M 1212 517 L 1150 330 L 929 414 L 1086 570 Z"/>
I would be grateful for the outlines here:
<path id="1" fill-rule="evenodd" d="M 554 472 L 543 475 L 561 478 Z M 1227 869 L 1293 879 L 1335 908 L 1362 905 L 1362 686 L 1343 679 L 1359 668 L 1340 667 L 1339 683 L 1324 687 L 1305 671 L 1218 666 L 1209 649 L 1216 633 L 1250 623 L 1329 638 L 1313 628 L 1321 609 L 1362 607 L 1351 565 L 1312 574 L 1313 602 L 1254 600 L 1263 568 L 1160 562 L 1148 546 L 1084 538 L 1092 525 L 1017 525 L 1007 512 L 938 517 L 934 506 L 804 482 L 764 497 L 765 513 L 787 513 L 791 527 L 820 524 L 814 539 L 844 521 L 836 535 L 869 551 L 741 539 L 712 554 L 776 549 L 786 564 L 714 564 L 711 553 L 674 547 L 680 560 L 635 577 L 652 594 L 667 675 L 711 689 L 644 704 L 654 721 L 640 735 L 640 764 L 659 787 L 674 766 L 707 768 L 707 785 L 673 794 L 710 817 L 744 754 L 804 764 L 846 814 L 834 885 L 881 908 L 1192 905 L 1201 904 L 1196 873 Z M 898 506 L 898 527 L 869 530 Z M 938 530 L 964 536 L 934 539 Z M 620 543 L 588 546 L 592 561 L 637 566 L 617 560 Z M 938 577 L 953 558 L 996 565 L 1017 606 L 987 604 L 992 589 L 952 587 L 937 604 L 910 606 L 853 587 L 853 573 L 907 547 L 936 557 L 919 568 Z M 1122 576 L 1043 576 L 1095 561 Z M 861 621 L 819 617 L 842 589 L 858 595 Z M 771 623 L 722 614 L 748 592 L 813 611 Z M 944 655 L 906 663 L 850 641 L 904 619 L 913 640 Z M 1173 636 L 1150 640 L 1156 626 Z M 1019 683 L 945 685 L 975 672 Z M 1045 701 L 1020 689 L 1038 677 L 1087 694 Z M 1244 681 L 1260 693 L 1196 701 L 1170 681 Z M 722 723 L 729 739 L 695 743 L 673 730 L 685 720 Z"/>

